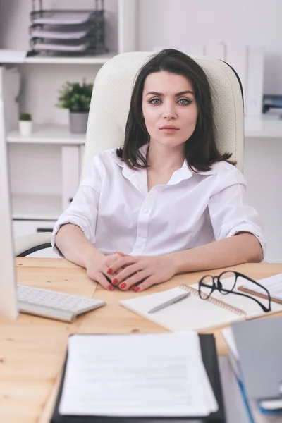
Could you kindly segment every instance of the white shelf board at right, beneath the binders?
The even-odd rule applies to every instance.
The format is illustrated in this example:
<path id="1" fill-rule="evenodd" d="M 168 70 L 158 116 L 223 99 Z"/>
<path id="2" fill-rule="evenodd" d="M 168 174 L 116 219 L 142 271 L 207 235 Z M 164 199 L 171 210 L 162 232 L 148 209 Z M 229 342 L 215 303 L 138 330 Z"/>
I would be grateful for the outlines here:
<path id="1" fill-rule="evenodd" d="M 245 118 L 245 137 L 282 138 L 282 119 L 262 116 L 262 119 Z"/>

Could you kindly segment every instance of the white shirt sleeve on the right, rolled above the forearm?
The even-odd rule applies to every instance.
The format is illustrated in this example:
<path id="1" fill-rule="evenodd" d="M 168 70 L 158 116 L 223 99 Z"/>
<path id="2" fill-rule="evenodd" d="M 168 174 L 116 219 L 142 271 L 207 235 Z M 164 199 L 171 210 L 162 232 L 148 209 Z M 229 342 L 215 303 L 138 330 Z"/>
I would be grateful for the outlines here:
<path id="1" fill-rule="evenodd" d="M 209 216 L 215 239 L 228 238 L 239 232 L 252 233 L 259 240 L 265 257 L 266 240 L 256 209 L 247 204 L 247 184 L 243 174 L 235 167 L 228 171 L 225 168 L 217 178 L 216 189 L 209 200 Z"/>

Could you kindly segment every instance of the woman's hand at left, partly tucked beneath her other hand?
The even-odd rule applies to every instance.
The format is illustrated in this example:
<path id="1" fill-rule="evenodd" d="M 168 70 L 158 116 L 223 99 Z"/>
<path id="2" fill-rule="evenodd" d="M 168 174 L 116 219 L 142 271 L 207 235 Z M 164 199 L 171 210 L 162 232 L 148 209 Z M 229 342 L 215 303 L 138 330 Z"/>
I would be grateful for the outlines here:
<path id="1" fill-rule="evenodd" d="M 86 267 L 88 278 L 98 282 L 106 290 L 113 290 L 114 286 L 111 285 L 111 280 L 118 276 L 118 272 L 113 272 L 110 276 L 107 274 L 107 270 L 109 266 L 113 266 L 118 259 L 121 259 L 121 254 L 115 252 L 113 255 L 104 256 L 99 262 L 94 262 L 94 260 L 90 261 Z"/>

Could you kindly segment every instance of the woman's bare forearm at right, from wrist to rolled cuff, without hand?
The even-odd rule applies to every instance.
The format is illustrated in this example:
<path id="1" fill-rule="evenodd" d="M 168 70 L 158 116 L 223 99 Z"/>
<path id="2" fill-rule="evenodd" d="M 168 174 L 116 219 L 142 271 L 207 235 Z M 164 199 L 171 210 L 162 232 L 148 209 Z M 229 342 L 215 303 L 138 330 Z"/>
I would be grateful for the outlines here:
<path id="1" fill-rule="evenodd" d="M 262 247 L 252 233 L 239 233 L 201 247 L 173 252 L 166 257 L 176 266 L 176 273 L 220 269 L 263 259 Z"/>

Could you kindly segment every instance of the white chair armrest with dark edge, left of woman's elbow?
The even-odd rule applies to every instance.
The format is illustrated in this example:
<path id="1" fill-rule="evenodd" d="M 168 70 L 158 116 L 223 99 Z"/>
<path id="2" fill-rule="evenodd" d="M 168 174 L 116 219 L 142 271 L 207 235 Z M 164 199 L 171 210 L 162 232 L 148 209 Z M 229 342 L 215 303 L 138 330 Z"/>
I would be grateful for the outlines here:
<path id="1" fill-rule="evenodd" d="M 14 239 L 16 257 L 25 257 L 32 252 L 51 247 L 51 232 L 32 233 Z"/>

